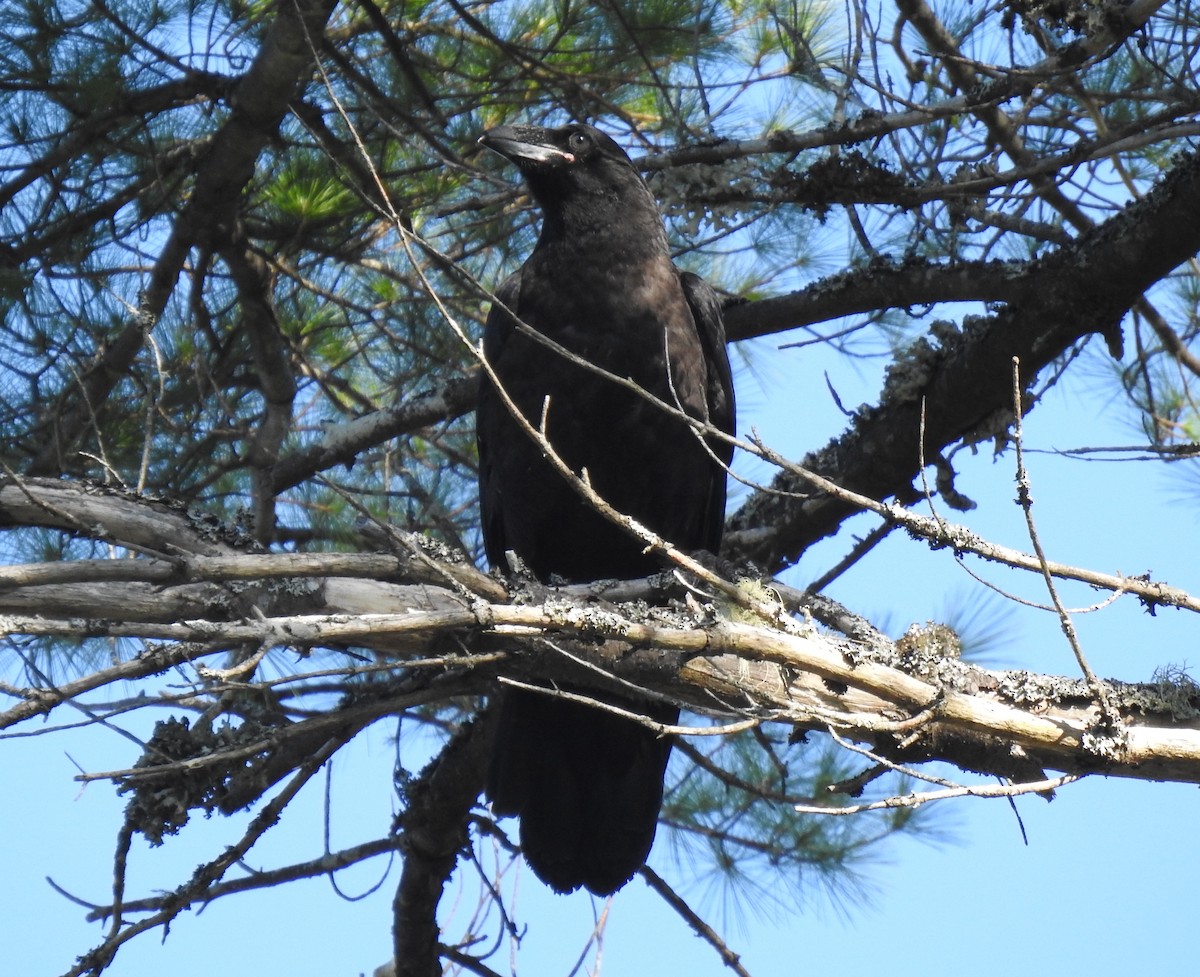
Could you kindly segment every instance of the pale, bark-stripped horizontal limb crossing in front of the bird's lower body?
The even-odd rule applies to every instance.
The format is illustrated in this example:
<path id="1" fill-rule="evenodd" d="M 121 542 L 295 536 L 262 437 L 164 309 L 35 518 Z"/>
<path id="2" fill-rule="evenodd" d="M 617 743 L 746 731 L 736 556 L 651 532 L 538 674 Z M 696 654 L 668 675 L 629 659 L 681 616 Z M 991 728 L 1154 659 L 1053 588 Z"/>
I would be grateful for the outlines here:
<path id="1" fill-rule="evenodd" d="M 463 603 L 456 612 L 301 615 L 224 625 L 8 616 L 0 618 L 0 627 L 10 634 L 144 634 L 203 639 L 209 645 L 284 642 L 298 648 L 371 647 L 396 637 L 403 637 L 409 648 L 430 647 L 455 635 L 461 646 L 482 651 L 496 641 L 511 647 L 522 640 L 526 651 L 505 667 L 508 673 L 559 675 L 578 683 L 589 672 L 580 672 L 574 658 L 583 658 L 616 669 L 622 681 L 712 714 L 749 713 L 802 729 L 833 725 L 864 739 L 902 729 L 910 757 L 916 726 L 923 743 L 919 759 L 947 760 L 968 769 L 1007 775 L 1018 750 L 1022 762 L 1068 773 L 1200 783 L 1200 693 L 1190 683 L 1105 683 L 1124 724 L 1118 738 L 1109 738 L 1098 732 L 1098 711 L 1086 683 L 967 666 L 922 633 L 896 645 L 870 647 L 816 631 L 784 634 L 720 619 L 683 616 L 664 623 L 653 612 L 647 617 L 644 609 L 599 609 L 566 600 L 540 605 L 475 601 Z M 564 663 L 536 640 L 552 635 L 583 642 L 572 661 Z M 602 643 L 596 646 L 598 641 Z M 630 654 L 637 648 L 654 654 Z M 599 679 L 593 676 L 592 681 Z M 14 693 L 19 690 L 10 690 Z M 19 694 L 29 703 L 53 695 L 37 689 Z M 20 706 L 10 711 L 5 725 L 25 718 L 25 712 Z M 916 723 L 914 717 L 919 718 Z"/>

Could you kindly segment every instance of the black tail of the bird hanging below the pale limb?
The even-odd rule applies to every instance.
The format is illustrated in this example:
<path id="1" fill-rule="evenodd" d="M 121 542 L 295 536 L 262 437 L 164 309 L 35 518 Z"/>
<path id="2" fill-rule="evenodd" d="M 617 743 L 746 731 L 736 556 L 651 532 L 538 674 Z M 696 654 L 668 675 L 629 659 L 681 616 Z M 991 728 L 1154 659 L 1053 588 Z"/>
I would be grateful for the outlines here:
<path id="1" fill-rule="evenodd" d="M 613 705 L 674 724 L 673 706 Z M 521 819 L 534 875 L 557 892 L 608 895 L 646 863 L 662 807 L 671 738 L 598 708 L 508 689 L 487 796 Z"/>

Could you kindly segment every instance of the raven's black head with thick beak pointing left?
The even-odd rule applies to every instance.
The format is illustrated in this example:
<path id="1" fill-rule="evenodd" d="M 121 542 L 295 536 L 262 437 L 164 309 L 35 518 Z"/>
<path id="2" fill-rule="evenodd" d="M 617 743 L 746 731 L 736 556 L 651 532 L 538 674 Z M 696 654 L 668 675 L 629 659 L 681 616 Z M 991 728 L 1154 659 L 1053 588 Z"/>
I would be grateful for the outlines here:
<path id="1" fill-rule="evenodd" d="M 544 235 L 559 236 L 572 224 L 575 233 L 636 227 L 659 246 L 662 220 L 646 181 L 625 150 L 595 126 L 497 126 L 479 144 L 516 163 L 546 215 Z"/>

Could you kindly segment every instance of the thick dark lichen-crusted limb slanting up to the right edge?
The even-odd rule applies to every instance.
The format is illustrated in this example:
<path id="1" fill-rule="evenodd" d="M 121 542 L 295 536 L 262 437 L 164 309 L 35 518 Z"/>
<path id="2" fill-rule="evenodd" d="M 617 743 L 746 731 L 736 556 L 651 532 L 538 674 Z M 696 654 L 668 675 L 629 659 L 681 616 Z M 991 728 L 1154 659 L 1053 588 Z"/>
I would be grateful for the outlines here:
<path id="1" fill-rule="evenodd" d="M 1030 265 L 1012 283 L 1009 305 L 965 320 L 956 334 L 941 324 L 907 362 L 890 371 L 878 406 L 803 467 L 859 495 L 912 495 L 922 456 L 959 440 L 1001 433 L 1010 413 L 1010 364 L 1018 356 L 1028 385 L 1044 366 L 1093 332 L 1112 335 L 1154 282 L 1200 251 L 1200 224 L 1180 214 L 1200 209 L 1200 160 L 1189 156 L 1144 199 L 1078 242 Z M 832 534 L 853 507 L 814 492 L 792 473 L 778 475 L 728 522 L 726 553 L 775 571 Z"/>

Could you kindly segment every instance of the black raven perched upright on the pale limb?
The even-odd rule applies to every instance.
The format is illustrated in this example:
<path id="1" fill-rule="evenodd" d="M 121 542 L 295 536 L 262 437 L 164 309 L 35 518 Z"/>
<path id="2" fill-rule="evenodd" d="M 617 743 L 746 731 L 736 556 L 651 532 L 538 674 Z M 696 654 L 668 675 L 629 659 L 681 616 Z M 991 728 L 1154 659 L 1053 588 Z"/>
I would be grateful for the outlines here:
<path id="1" fill-rule="evenodd" d="M 683 550 L 716 552 L 732 448 L 571 362 L 511 313 L 588 364 L 733 431 L 733 384 L 716 293 L 671 262 L 654 198 L 629 157 L 587 125 L 500 126 L 479 140 L 516 163 L 541 234 L 487 317 L 496 378 L 554 451 L 587 469 L 618 511 Z M 557 472 L 485 380 L 476 413 L 484 544 L 514 551 L 540 580 L 632 579 L 661 569 L 646 544 L 598 514 Z M 661 702 L 589 693 L 674 723 Z M 497 815 L 521 817 L 534 873 L 558 892 L 607 895 L 646 862 L 671 741 L 600 709 L 506 690 L 487 779 Z"/>

